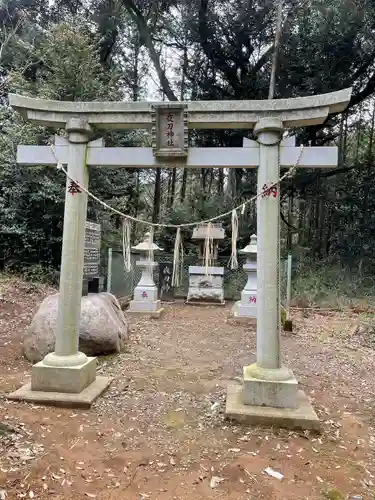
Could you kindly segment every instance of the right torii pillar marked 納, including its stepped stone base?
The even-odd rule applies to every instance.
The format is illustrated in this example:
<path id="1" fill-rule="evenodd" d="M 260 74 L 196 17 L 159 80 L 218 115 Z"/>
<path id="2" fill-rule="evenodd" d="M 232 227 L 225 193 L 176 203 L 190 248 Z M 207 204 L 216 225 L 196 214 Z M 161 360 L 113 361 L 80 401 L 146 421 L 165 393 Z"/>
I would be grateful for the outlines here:
<path id="1" fill-rule="evenodd" d="M 341 110 L 346 105 L 341 103 Z M 306 125 L 309 113 L 304 111 L 306 114 L 301 113 L 300 121 Z M 322 110 L 322 114 L 328 112 L 327 108 Z M 280 192 L 279 186 L 268 190 L 267 187 L 280 178 L 280 164 L 284 163 L 280 147 L 283 132 L 280 117 L 261 117 L 254 127 L 259 148 L 257 192 L 263 193 L 257 200 L 256 361 L 243 367 L 242 385 L 228 386 L 226 416 L 255 425 L 319 430 L 320 422 L 309 398 L 298 389 L 292 370 L 281 361 Z"/>

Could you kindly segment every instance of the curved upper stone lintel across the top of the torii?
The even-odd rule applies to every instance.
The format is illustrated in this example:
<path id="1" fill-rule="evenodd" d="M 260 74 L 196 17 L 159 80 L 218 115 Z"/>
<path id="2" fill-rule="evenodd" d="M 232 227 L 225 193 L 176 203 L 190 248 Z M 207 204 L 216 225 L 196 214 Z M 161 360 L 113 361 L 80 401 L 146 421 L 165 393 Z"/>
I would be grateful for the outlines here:
<path id="1" fill-rule="evenodd" d="M 318 125 L 330 113 L 347 107 L 352 89 L 292 99 L 254 101 L 186 101 L 189 128 L 253 128 L 264 117 L 280 119 L 285 127 Z M 10 105 L 38 125 L 64 127 L 82 117 L 95 128 L 151 128 L 151 106 L 157 102 L 72 102 L 9 94 Z"/>

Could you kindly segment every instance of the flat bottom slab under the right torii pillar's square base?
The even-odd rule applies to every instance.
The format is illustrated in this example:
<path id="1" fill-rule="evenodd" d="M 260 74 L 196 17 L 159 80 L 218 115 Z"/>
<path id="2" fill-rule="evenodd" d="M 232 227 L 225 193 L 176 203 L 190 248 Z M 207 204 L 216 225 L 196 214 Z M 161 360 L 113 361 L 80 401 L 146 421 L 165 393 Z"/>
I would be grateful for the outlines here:
<path id="1" fill-rule="evenodd" d="M 243 393 L 244 388 L 242 385 L 228 385 L 225 408 L 227 419 L 249 425 L 320 431 L 318 416 L 303 391 L 297 392 L 296 408 L 245 405 Z"/>

